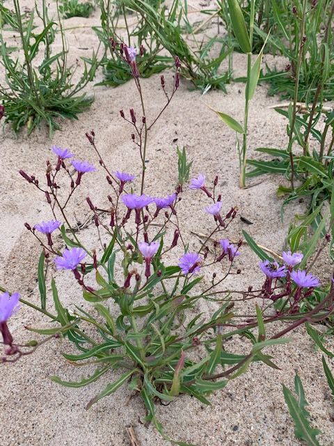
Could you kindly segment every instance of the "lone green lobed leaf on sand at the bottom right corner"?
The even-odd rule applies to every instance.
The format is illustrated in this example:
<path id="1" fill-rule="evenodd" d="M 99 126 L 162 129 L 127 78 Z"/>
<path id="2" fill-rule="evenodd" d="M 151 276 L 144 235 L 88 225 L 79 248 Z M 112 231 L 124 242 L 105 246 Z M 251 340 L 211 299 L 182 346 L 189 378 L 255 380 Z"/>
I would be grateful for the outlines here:
<path id="1" fill-rule="evenodd" d="M 301 410 L 298 401 L 285 385 L 283 385 L 283 394 L 289 413 L 292 416 L 292 420 L 294 420 L 294 434 L 296 438 L 304 440 L 308 446 L 319 446 L 316 436 L 320 431 L 312 429 L 307 418 L 303 415 L 303 410 Z"/>

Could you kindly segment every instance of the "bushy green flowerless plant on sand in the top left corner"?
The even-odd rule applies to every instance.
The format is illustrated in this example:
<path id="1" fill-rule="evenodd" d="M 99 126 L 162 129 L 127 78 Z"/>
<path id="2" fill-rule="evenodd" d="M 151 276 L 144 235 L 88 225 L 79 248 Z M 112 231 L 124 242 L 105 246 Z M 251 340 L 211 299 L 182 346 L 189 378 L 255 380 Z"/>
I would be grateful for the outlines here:
<path id="1" fill-rule="evenodd" d="M 93 54 L 90 68 L 83 62 L 84 71 L 79 81 L 74 82 L 79 61 L 76 66 L 67 65 L 65 34 L 60 17 L 57 26 L 49 18 L 47 3 L 43 0 L 40 9 L 36 3 L 29 21 L 24 24 L 18 0 L 14 0 L 14 6 L 15 20 L 10 24 L 13 31 L 19 34 L 22 54 L 11 56 L 13 50 L 6 43 L 6 32 L 3 28 L 0 32 L 1 63 L 6 74 L 6 84 L 0 86 L 0 101 L 5 108 L 5 120 L 12 124 L 15 132 L 26 126 L 29 134 L 45 123 L 51 137 L 54 130 L 61 128 L 59 119 L 77 119 L 77 115 L 93 102 L 93 97 L 78 93 L 95 77 L 97 59 Z M 38 34 L 34 32 L 35 17 L 43 27 Z M 52 43 L 56 31 L 61 34 L 62 49 L 53 54 Z M 42 52 L 42 48 L 44 56 L 38 63 L 38 53 Z"/>

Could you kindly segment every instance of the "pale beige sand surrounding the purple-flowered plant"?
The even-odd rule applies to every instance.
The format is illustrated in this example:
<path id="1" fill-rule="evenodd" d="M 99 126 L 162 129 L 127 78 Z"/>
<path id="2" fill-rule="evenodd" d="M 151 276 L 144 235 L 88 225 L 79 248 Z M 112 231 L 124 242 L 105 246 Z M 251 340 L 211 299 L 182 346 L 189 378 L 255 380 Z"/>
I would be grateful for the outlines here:
<path id="1" fill-rule="evenodd" d="M 31 2 L 22 1 L 22 5 L 31 6 Z M 76 24 L 87 26 L 97 23 L 97 19 L 98 14 L 95 13 L 89 20 L 71 19 L 67 22 L 69 27 Z M 89 51 L 79 48 L 88 47 L 90 50 L 97 43 L 89 27 L 69 33 L 68 40 L 72 57 L 86 56 Z M 236 75 L 244 73 L 244 56 L 241 54 L 235 55 L 234 68 Z M 172 73 L 165 75 L 169 80 L 171 76 Z M 292 215 L 301 211 L 301 206 L 290 208 L 284 222 L 281 222 L 281 201 L 276 198 L 280 178 L 267 176 L 262 178 L 262 183 L 239 190 L 234 132 L 205 105 L 209 104 L 242 121 L 244 84 L 228 86 L 228 95 L 214 91 L 204 97 L 198 91 L 189 91 L 190 87 L 186 82 L 181 83 L 175 99 L 150 135 L 146 192 L 159 195 L 173 191 L 177 181 L 176 144 L 186 146 L 189 158 L 193 160 L 192 174 L 203 173 L 211 179 L 217 174 L 225 208 L 238 206 L 241 215 L 253 222 L 247 226 L 238 220 L 228 235 L 238 238 L 241 230 L 246 229 L 257 243 L 280 252 Z M 143 90 L 148 116 L 154 116 L 164 101 L 159 77 L 143 81 Z M 120 108 L 138 109 L 134 84 L 129 82 L 117 89 L 97 87 L 94 95 L 95 102 L 90 111 L 81 114 L 79 121 L 64 122 L 63 131 L 56 132 L 52 141 L 47 138 L 45 129 L 34 132 L 31 137 L 26 137 L 24 131 L 15 137 L 6 127 L 1 134 L 0 279 L 10 291 L 19 291 L 32 302 L 38 303 L 35 272 L 40 247 L 23 224 L 35 224 L 51 215 L 38 191 L 22 180 L 18 170 L 24 169 L 42 178 L 52 144 L 68 147 L 79 158 L 97 165 L 97 157 L 84 136 L 93 128 L 98 148 L 111 169 L 134 174 L 140 172 L 139 156 L 132 146 L 129 127 L 119 116 Z M 258 146 L 285 146 L 285 119 L 269 108 L 278 102 L 278 98 L 267 97 L 265 86 L 257 89 L 250 105 L 250 155 Z M 101 171 L 85 176 L 77 198 L 72 202 L 71 218 L 74 213 L 80 220 L 88 215 L 84 202 L 87 194 L 94 202 L 103 204 L 108 193 Z M 205 204 L 200 194 L 185 192 L 181 224 L 193 247 L 198 246 L 198 239 L 191 236 L 191 231 L 207 233 L 211 227 L 202 212 Z M 93 233 L 93 229 L 88 228 L 81 231 L 80 236 L 92 244 Z M 257 259 L 247 247 L 243 248 L 239 266 L 242 269 L 239 288 L 260 283 L 262 275 Z M 323 272 L 324 263 L 319 263 L 317 269 L 319 275 L 329 277 L 326 271 Z M 80 289 L 69 276 L 62 272 L 56 277 L 61 299 L 65 304 L 81 304 Z M 210 309 L 208 306 L 207 311 Z M 10 327 L 15 339 L 23 342 L 32 337 L 24 330 L 24 325 L 45 326 L 46 323 L 45 318 L 22 307 L 11 319 Z M 212 396 L 211 407 L 204 407 L 190 397 L 181 397 L 166 407 L 158 406 L 157 415 L 166 433 L 198 446 L 299 445 L 301 443 L 294 437 L 294 426 L 282 392 L 283 383 L 293 387 L 294 375 L 298 372 L 310 403 L 312 426 L 322 432 L 319 441 L 324 446 L 334 445 L 334 404 L 322 370 L 321 354 L 315 351 L 303 328 L 296 330 L 292 339 L 289 345 L 279 346 L 273 351 L 281 370 L 253 364 L 247 374 L 231 381 L 225 390 Z M 233 342 L 231 347 L 241 351 L 241 341 Z M 61 352 L 71 351 L 71 348 L 66 342 L 54 340 L 42 346 L 35 355 L 1 367 L 1 445 L 129 445 L 125 433 L 128 425 L 134 426 L 142 446 L 169 444 L 161 440 L 152 426 L 142 424 L 145 410 L 138 399 L 131 399 L 125 405 L 129 393 L 123 389 L 89 411 L 85 410 L 88 400 L 112 379 L 111 376 L 105 375 L 97 383 L 78 390 L 51 383 L 50 375 L 75 380 L 90 373 L 89 368 L 77 369 L 63 360 Z M 328 342 L 328 348 L 334 351 L 333 339 Z M 333 369 L 333 360 L 328 359 L 328 364 Z"/>

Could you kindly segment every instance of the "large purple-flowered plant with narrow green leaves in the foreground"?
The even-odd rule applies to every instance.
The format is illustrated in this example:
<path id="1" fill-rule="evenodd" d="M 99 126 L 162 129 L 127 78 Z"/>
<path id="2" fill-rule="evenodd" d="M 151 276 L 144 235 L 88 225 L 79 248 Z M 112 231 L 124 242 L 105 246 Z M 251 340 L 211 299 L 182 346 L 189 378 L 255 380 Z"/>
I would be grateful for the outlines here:
<path id="1" fill-rule="evenodd" d="M 141 397 L 146 420 L 164 438 L 186 445 L 166 436 L 155 415 L 155 403 L 169 403 L 180 394 L 189 394 L 209 404 L 210 393 L 243 374 L 252 362 L 262 361 L 277 368 L 264 348 L 287 342 L 285 335 L 305 322 L 330 316 L 334 291 L 324 289 L 324 299 L 305 312 L 303 302 L 321 286 L 317 277 L 299 268 L 303 254 L 283 252 L 280 261 L 276 261 L 247 233 L 246 242 L 261 259 L 263 284 L 240 289 L 238 278 L 242 271 L 238 259 L 246 252 L 241 240 L 232 243 L 228 239 L 237 208 L 226 208 L 217 176 L 208 181 L 204 174 L 198 174 L 190 181 L 193 194 L 207 199 L 204 212 L 212 226 L 207 238 L 196 249 L 189 250 L 189 240 L 180 224 L 182 208 L 187 204 L 182 199 L 182 188 L 191 168 L 185 150 L 178 151 L 179 184 L 174 188 L 171 185 L 164 197 L 145 193 L 149 135 L 179 88 L 180 61 L 175 60 L 173 82 L 161 76 L 165 102 L 156 116 L 150 116 L 136 64 L 136 49 L 122 43 L 115 44 L 115 51 L 128 63 L 134 78 L 132 86 L 140 99 L 139 109 L 121 109 L 120 116 L 131 129 L 141 176 L 136 181 L 132 173 L 109 169 L 98 148 L 97 135 L 93 130 L 86 133 L 110 190 L 104 203 L 94 197 L 86 198 L 96 230 L 96 243 L 90 243 L 93 248 L 88 249 L 72 226 L 68 209 L 77 189 L 88 175 L 95 175 L 97 168 L 73 159 L 70 149 L 54 146 L 54 160 L 47 162 L 45 181 L 23 170 L 19 172 L 45 197 L 52 220 L 25 224 L 42 247 L 38 261 L 41 302 L 39 306 L 20 298 L 17 292 L 10 294 L 2 289 L 0 330 L 6 347 L 2 360 L 18 360 L 49 339 L 65 337 L 79 350 L 63 353 L 65 359 L 81 365 L 95 364 L 96 370 L 79 382 L 53 376 L 54 382 L 81 387 L 106 374 L 110 383 L 88 401 L 87 409 L 127 385 Z M 56 233 L 61 236 L 60 243 Z M 216 240 L 213 245 L 212 239 Z M 55 267 L 72 272 L 84 305 L 74 304 L 74 310 L 63 305 L 58 293 L 61 277 L 55 274 Z M 229 277 L 233 278 L 233 289 L 225 285 Z M 47 295 L 49 282 L 53 305 Z M 15 341 L 8 319 L 19 300 L 51 319 L 54 328 L 49 328 L 49 324 L 47 328 L 29 328 L 47 336 L 44 340 L 32 339 L 24 345 Z M 250 309 L 246 302 L 252 300 L 257 303 Z M 214 307 L 198 312 L 201 302 L 211 302 Z M 267 325 L 271 323 L 275 325 L 267 334 Z M 231 337 L 245 341 L 239 354 L 229 351 L 225 343 Z"/>

